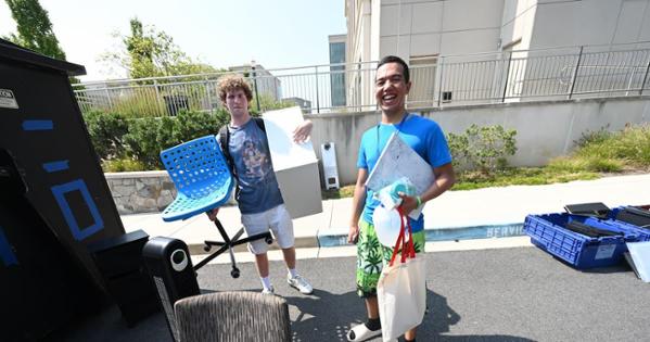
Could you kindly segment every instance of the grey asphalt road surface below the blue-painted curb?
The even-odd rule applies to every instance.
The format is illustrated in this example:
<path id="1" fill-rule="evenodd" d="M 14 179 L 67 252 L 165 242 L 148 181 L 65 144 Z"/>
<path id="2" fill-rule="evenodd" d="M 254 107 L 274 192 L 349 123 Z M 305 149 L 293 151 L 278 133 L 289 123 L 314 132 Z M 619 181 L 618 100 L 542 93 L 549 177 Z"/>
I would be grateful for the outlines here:
<path id="1" fill-rule="evenodd" d="M 498 240 L 498 239 L 496 239 Z M 648 341 L 650 284 L 624 264 L 576 270 L 537 248 L 431 252 L 426 286 L 429 314 L 419 341 Z M 345 341 L 365 317 L 354 286 L 354 257 L 299 262 L 315 292 L 303 295 L 285 284 L 281 262 L 271 262 L 276 292 L 290 308 L 293 341 Z M 259 291 L 254 265 L 199 270 L 209 291 Z M 65 335 L 67 341 L 171 341 L 162 313 L 128 329 L 111 307 Z M 381 341 L 373 339 L 371 341 Z"/>

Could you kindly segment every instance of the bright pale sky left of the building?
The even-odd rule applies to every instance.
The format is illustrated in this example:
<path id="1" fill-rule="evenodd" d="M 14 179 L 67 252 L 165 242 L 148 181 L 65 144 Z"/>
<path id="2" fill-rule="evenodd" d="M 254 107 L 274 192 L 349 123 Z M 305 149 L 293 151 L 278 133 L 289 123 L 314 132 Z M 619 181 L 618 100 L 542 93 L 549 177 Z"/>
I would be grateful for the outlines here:
<path id="1" fill-rule="evenodd" d="M 174 38 L 190 58 L 215 67 L 248 64 L 265 68 L 329 63 L 328 36 L 346 33 L 344 0 L 40 0 L 68 62 L 86 66 L 82 81 L 124 78 L 101 62 L 117 51 L 138 17 Z M 15 33 L 0 1 L 0 36 Z"/>

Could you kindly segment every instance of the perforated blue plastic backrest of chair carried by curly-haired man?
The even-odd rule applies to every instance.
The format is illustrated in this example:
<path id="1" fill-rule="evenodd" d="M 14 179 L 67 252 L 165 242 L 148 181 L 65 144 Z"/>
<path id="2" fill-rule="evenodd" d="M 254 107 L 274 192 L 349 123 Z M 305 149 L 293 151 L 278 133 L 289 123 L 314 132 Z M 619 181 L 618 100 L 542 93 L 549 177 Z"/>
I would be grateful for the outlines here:
<path id="1" fill-rule="evenodd" d="M 205 136 L 161 152 L 161 160 L 176 189 L 191 199 L 211 190 L 228 189 L 230 168 L 215 136 Z"/>

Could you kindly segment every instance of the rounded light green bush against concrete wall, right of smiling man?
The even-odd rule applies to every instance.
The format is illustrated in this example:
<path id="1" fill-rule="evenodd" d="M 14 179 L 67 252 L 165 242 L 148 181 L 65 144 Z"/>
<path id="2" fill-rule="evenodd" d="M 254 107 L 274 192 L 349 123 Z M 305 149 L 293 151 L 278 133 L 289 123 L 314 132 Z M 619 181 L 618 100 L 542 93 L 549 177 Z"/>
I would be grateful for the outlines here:
<path id="1" fill-rule="evenodd" d="M 461 135 L 449 134 L 447 141 L 459 169 L 476 169 L 490 175 L 508 166 L 506 157 L 517 152 L 517 130 L 501 126 L 470 126 Z"/>

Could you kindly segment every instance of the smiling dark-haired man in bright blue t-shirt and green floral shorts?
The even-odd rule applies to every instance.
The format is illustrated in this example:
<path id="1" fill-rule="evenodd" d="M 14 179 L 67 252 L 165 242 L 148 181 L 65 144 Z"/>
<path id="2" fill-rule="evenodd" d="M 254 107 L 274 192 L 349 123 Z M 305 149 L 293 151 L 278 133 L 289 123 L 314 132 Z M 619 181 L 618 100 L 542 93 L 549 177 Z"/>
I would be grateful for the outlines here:
<path id="1" fill-rule="evenodd" d="M 434 183 L 423 193 L 416 197 L 400 195 L 405 213 L 410 213 L 420 203 L 437 198 L 456 181 L 451 155 L 441 127 L 429 118 L 406 111 L 406 96 L 410 87 L 408 65 L 402 59 L 390 55 L 379 62 L 374 96 L 382 113 L 381 123 L 368 129 L 361 137 L 353 215 L 347 236 L 349 243 L 357 243 L 357 293 L 366 301 L 368 321 L 348 331 L 349 341 L 364 341 L 381 334 L 377 283 L 382 266 L 390 261 L 393 249 L 383 248 L 377 240 L 372 214 L 380 202 L 373 198 L 372 190 L 366 189 L 365 183 L 388 138 L 393 132 L 397 132 L 399 138 L 431 165 L 435 175 Z M 423 252 L 423 215 L 409 220 L 416 252 Z M 415 339 L 416 328 L 405 333 L 406 341 Z"/>

